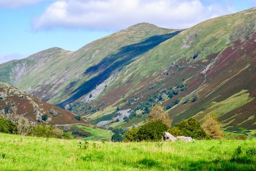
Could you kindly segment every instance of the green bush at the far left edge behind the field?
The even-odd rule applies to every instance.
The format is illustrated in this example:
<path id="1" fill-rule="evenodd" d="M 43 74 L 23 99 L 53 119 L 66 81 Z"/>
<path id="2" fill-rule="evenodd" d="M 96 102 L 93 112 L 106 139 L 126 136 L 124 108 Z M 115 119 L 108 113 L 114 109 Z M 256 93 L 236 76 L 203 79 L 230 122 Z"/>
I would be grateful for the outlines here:
<path id="1" fill-rule="evenodd" d="M 17 131 L 18 131 L 17 127 L 12 121 L 8 119 L 4 119 L 3 117 L 0 116 L 0 132 L 1 133 L 14 134 Z"/>

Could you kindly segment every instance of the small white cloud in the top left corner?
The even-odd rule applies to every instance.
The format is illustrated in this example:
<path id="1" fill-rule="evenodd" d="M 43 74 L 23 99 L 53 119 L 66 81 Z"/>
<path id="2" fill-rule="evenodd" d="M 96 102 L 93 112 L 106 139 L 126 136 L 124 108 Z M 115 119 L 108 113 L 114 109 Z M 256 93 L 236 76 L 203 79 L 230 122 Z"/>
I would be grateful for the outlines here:
<path id="1" fill-rule="evenodd" d="M 0 0 L 0 8 L 19 8 L 49 0 Z"/>

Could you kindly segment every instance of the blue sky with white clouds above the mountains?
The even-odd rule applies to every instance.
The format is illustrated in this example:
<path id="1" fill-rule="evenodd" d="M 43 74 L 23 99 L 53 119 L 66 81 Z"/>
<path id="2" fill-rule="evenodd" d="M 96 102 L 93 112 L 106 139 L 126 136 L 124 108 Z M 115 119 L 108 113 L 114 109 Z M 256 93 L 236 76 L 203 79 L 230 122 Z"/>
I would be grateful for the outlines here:
<path id="1" fill-rule="evenodd" d="M 256 0 L 0 0 L 0 64 L 41 50 L 78 50 L 139 22 L 189 28 Z"/>

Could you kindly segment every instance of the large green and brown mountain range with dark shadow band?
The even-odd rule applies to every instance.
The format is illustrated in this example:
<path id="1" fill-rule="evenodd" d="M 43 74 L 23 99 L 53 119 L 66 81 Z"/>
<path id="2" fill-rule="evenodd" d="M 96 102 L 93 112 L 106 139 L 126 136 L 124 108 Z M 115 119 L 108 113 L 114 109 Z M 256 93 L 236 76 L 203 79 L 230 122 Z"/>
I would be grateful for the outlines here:
<path id="1" fill-rule="evenodd" d="M 256 129 L 255 49 L 252 8 L 188 29 L 139 23 L 75 52 L 47 49 L 1 64 L 0 81 L 100 126 L 141 125 L 160 104 L 173 124 L 216 114 L 223 128 Z"/>

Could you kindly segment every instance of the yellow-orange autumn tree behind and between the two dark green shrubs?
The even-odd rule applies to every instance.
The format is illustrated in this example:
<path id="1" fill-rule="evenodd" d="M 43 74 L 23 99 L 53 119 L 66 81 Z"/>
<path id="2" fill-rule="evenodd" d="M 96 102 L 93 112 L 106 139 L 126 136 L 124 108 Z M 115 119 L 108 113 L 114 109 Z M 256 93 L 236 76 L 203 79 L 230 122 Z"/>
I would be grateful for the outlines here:
<path id="1" fill-rule="evenodd" d="M 164 124 L 171 126 L 173 120 L 168 113 L 160 105 L 155 105 L 149 113 L 149 121 L 161 121 Z"/>

